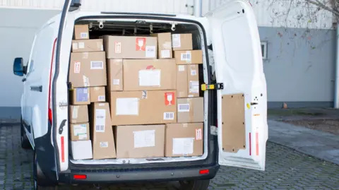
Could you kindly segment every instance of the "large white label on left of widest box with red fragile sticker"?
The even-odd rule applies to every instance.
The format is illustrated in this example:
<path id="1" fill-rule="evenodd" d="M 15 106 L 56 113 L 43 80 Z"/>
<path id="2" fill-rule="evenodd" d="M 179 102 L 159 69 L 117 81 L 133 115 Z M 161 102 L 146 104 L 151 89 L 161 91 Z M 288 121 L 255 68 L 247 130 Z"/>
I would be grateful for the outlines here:
<path id="1" fill-rule="evenodd" d="M 115 113 L 116 115 L 138 115 L 139 98 L 138 97 L 117 98 Z"/>

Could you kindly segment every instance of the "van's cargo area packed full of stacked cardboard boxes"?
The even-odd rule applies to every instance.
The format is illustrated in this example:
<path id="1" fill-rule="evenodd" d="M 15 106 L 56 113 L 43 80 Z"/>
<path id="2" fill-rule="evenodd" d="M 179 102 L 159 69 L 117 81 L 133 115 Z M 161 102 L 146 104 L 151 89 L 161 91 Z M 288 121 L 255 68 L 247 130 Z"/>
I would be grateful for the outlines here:
<path id="1" fill-rule="evenodd" d="M 201 84 L 210 74 L 202 34 L 194 23 L 78 21 L 69 65 L 71 164 L 205 160 L 210 102 Z"/>

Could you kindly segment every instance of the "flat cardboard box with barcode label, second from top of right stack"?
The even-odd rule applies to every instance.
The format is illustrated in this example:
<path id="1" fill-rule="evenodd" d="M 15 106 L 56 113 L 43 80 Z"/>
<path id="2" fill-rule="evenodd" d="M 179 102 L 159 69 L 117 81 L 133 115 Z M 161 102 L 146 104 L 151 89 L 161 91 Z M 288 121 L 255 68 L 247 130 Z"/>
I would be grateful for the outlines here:
<path id="1" fill-rule="evenodd" d="M 203 51 L 175 51 L 174 58 L 178 65 L 183 64 L 203 64 Z"/>

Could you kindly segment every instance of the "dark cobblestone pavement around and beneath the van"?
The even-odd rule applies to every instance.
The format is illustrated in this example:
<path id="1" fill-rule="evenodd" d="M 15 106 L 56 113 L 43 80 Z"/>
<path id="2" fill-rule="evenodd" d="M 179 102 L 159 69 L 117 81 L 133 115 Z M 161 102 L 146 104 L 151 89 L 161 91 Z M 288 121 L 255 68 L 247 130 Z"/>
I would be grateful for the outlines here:
<path id="1" fill-rule="evenodd" d="M 20 148 L 18 125 L 0 126 L 0 189 L 32 189 L 32 151 Z M 220 167 L 209 189 L 339 189 L 339 166 L 311 158 L 290 148 L 268 143 L 266 171 Z M 102 189 L 178 189 L 177 182 L 121 184 Z M 58 189 L 95 189 L 61 186 Z"/>

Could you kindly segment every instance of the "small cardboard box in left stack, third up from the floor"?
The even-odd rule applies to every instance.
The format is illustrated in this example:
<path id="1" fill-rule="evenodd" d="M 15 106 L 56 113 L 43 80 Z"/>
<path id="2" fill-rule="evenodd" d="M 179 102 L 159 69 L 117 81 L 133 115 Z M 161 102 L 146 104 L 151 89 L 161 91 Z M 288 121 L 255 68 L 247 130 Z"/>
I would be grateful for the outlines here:
<path id="1" fill-rule="evenodd" d="M 88 122 L 88 106 L 87 105 L 70 105 L 69 119 L 71 124 L 83 124 Z"/>

